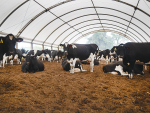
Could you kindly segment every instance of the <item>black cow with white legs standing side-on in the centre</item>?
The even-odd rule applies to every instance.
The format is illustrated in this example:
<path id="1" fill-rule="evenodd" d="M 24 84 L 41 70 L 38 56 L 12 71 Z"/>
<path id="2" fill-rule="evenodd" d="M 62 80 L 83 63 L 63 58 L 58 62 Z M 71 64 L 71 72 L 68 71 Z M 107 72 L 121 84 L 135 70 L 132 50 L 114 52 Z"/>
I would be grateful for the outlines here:
<path id="1" fill-rule="evenodd" d="M 66 42 L 64 44 L 60 44 L 60 46 L 63 46 L 64 52 L 67 55 L 67 59 L 70 62 L 70 73 L 74 73 L 74 67 L 77 59 L 88 59 L 90 61 L 90 72 L 93 72 L 94 57 L 95 54 L 97 54 L 98 49 L 98 46 L 96 44 L 68 44 Z M 83 71 L 82 68 L 81 71 Z"/>

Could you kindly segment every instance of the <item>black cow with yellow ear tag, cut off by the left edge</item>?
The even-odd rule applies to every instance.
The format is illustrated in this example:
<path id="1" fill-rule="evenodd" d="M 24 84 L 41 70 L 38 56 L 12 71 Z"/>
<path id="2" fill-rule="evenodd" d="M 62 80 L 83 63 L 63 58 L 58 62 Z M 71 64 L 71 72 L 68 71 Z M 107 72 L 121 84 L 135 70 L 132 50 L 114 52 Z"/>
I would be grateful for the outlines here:
<path id="1" fill-rule="evenodd" d="M 13 34 L 8 34 L 6 37 L 0 37 L 0 64 L 3 60 L 3 55 L 5 53 L 8 54 L 8 56 L 15 54 L 15 45 L 16 42 L 22 42 L 22 38 L 15 38 Z M 4 62 L 3 66 L 4 67 Z"/>

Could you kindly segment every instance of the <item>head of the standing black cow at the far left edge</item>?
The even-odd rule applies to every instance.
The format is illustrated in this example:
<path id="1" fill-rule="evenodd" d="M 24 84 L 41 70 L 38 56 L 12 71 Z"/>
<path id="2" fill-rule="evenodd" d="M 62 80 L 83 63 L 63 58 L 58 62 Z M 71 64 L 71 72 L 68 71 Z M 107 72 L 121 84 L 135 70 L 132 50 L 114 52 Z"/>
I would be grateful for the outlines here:
<path id="1" fill-rule="evenodd" d="M 13 55 L 15 52 L 16 42 L 22 42 L 22 38 L 15 38 L 13 34 L 8 34 L 4 39 L 4 44 L 10 55 Z"/>

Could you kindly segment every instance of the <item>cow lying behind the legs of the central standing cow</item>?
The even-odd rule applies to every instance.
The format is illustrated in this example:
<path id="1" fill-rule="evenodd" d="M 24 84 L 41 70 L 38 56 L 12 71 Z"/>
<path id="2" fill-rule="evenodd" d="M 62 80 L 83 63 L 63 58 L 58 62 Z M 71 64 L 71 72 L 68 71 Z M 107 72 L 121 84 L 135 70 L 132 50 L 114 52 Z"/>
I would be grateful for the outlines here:
<path id="1" fill-rule="evenodd" d="M 70 63 L 68 63 L 67 58 L 63 58 L 62 67 L 65 71 L 70 71 Z M 82 64 L 80 61 L 76 61 L 74 72 L 80 72 Z"/>

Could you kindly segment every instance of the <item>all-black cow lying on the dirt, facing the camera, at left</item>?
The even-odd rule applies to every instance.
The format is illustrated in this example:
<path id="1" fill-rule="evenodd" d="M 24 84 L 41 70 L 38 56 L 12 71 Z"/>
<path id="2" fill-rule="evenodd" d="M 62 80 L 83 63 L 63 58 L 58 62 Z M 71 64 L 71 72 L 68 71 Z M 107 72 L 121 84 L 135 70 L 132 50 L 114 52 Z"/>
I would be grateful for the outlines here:
<path id="1" fill-rule="evenodd" d="M 26 56 L 26 61 L 22 64 L 22 71 L 24 73 L 35 73 L 38 71 L 43 71 L 44 70 L 44 64 L 37 60 L 35 56 Z"/>

